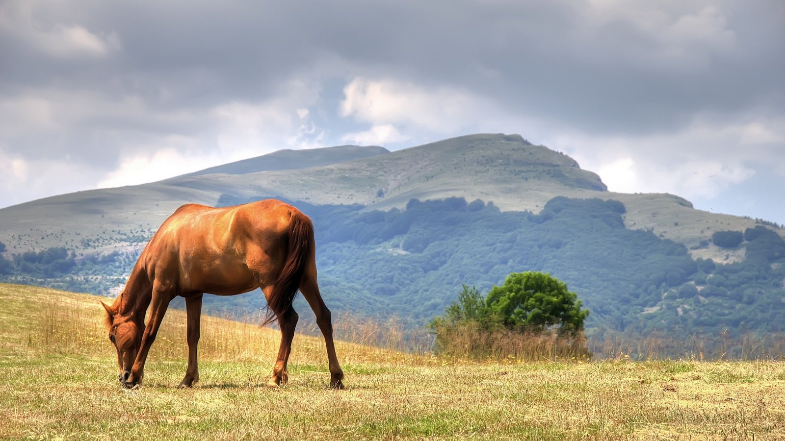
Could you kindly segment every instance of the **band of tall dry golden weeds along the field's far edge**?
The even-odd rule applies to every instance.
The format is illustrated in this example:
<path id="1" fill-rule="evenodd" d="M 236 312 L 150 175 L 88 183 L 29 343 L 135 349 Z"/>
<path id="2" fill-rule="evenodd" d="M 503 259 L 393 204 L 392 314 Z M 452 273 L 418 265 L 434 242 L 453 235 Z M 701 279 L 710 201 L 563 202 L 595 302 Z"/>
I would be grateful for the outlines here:
<path id="1" fill-rule="evenodd" d="M 265 359 L 278 350 L 279 332 L 257 325 L 257 315 L 221 319 L 204 315 L 199 357 L 203 359 Z M 27 347 L 79 355 L 112 354 L 103 324 L 103 310 L 95 305 L 42 302 L 27 331 Z M 418 355 L 439 352 L 446 359 L 553 360 L 553 359 L 785 359 L 785 335 L 747 333 L 732 335 L 667 333 L 601 333 L 589 339 L 560 338 L 553 333 L 513 333 L 483 330 L 476 323 L 433 332 L 397 317 L 378 319 L 350 314 L 333 319 L 334 336 L 349 359 L 417 363 Z M 303 337 L 311 336 L 311 337 Z M 184 359 L 188 354 L 184 312 L 170 310 L 151 355 L 156 359 Z M 294 353 L 320 361 L 324 356 L 321 331 L 312 319 L 301 319 Z M 425 363 L 423 361 L 422 363 Z"/>

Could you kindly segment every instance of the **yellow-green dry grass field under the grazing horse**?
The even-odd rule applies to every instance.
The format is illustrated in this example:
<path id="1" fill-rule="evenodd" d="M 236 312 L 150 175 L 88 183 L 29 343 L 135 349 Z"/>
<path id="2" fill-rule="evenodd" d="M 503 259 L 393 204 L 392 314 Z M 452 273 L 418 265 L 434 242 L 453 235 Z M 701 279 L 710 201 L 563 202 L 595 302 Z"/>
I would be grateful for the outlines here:
<path id="1" fill-rule="evenodd" d="M 201 381 L 170 311 L 144 385 L 120 388 L 97 297 L 0 285 L 2 439 L 785 439 L 785 363 L 469 363 L 295 337 L 265 387 L 275 330 L 203 319 Z M 301 312 L 302 315 L 305 313 Z"/>

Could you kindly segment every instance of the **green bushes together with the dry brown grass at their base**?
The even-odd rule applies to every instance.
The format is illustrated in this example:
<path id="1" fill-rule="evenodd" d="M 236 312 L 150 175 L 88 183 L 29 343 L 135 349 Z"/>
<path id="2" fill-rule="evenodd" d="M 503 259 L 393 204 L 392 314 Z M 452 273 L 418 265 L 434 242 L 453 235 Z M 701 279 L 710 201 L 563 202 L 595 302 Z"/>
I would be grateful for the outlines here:
<path id="1" fill-rule="evenodd" d="M 589 358 L 581 309 L 564 282 L 540 272 L 509 275 L 487 297 L 462 285 L 430 324 L 436 352 L 472 359 Z"/>

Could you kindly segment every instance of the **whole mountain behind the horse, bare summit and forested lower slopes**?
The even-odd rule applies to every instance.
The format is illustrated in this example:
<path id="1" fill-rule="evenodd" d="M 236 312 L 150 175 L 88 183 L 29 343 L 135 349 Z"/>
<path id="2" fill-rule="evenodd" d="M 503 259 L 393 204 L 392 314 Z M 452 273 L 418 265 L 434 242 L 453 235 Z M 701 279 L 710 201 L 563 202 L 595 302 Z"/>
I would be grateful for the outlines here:
<path id="1" fill-rule="evenodd" d="M 0 242 L 13 261 L 5 279 L 116 293 L 177 206 L 267 197 L 314 219 L 323 290 L 339 310 L 422 323 L 461 283 L 487 289 L 509 272 L 535 269 L 578 291 L 593 330 L 780 329 L 782 228 L 695 210 L 675 195 L 608 191 L 597 174 L 520 135 L 392 152 L 278 151 L 8 207 L 0 210 Z M 738 242 L 714 243 L 725 231 Z M 225 305 L 259 306 L 241 297 Z M 758 311 L 764 319 L 743 319 Z"/>

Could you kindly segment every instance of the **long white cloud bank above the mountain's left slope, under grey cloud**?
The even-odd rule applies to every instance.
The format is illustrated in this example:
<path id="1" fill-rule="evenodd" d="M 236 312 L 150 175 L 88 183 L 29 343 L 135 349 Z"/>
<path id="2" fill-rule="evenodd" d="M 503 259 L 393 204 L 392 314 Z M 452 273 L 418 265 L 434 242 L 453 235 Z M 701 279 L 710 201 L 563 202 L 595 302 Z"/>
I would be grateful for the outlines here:
<path id="1" fill-rule="evenodd" d="M 309 111 L 318 97 L 318 87 L 301 81 L 267 100 L 206 109 L 162 109 L 138 93 L 100 89 L 4 97 L 0 206 L 161 180 L 281 148 L 323 147 L 325 132 Z"/>

